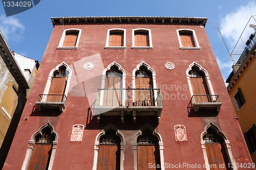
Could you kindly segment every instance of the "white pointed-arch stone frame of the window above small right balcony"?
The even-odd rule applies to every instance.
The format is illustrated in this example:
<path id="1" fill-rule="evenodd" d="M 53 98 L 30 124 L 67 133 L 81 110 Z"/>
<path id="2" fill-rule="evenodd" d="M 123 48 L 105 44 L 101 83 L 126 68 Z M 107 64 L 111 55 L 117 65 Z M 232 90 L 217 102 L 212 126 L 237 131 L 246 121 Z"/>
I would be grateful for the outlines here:
<path id="1" fill-rule="evenodd" d="M 199 68 L 199 71 L 203 71 L 204 72 L 204 78 L 206 80 L 206 84 L 207 84 L 209 93 L 210 93 L 210 95 L 215 95 L 214 88 L 212 88 L 208 72 L 200 64 L 198 64 L 198 63 L 196 63 L 194 61 L 193 63 L 191 63 L 189 65 L 189 67 L 186 70 L 187 82 L 188 82 L 188 87 L 189 87 L 189 91 L 190 91 L 191 97 L 194 95 L 194 93 L 193 93 L 193 87 L 192 87 L 192 84 L 191 84 L 191 81 L 190 81 L 189 71 L 192 70 L 193 66 L 197 66 Z"/>

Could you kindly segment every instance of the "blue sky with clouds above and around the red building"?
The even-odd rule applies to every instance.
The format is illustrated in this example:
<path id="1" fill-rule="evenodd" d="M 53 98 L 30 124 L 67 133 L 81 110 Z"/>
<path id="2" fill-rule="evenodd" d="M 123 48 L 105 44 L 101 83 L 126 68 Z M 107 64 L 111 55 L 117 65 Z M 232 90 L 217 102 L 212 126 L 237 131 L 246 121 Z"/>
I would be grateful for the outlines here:
<path id="1" fill-rule="evenodd" d="M 24 1 L 24 0 L 23 0 Z M 12 51 L 41 61 L 53 30 L 51 17 L 62 16 L 189 16 L 207 17 L 206 33 L 215 53 L 223 79 L 231 72 L 229 51 L 238 41 L 251 15 L 256 14 L 256 0 L 243 1 L 123 1 L 123 0 L 41 0 L 35 7 L 6 17 L 0 4 L 0 30 Z M 238 57 L 234 57 L 237 61 Z"/>

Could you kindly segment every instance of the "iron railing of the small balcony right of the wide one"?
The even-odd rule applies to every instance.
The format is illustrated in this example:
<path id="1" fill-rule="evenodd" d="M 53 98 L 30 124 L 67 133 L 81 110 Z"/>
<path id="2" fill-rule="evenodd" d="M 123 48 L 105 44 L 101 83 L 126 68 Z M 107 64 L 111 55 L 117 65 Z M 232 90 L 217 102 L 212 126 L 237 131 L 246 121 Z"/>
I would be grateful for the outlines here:
<path id="1" fill-rule="evenodd" d="M 193 95 L 191 102 L 194 103 L 221 103 L 219 95 Z"/>

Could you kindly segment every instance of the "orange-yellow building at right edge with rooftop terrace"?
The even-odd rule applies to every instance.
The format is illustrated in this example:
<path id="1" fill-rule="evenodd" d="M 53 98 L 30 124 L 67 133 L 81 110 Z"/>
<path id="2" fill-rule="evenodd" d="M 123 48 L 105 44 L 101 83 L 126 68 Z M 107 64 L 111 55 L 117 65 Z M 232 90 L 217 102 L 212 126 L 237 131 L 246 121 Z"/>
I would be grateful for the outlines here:
<path id="1" fill-rule="evenodd" d="M 252 28 L 248 30 L 252 31 Z M 253 31 L 254 32 L 254 31 Z M 256 33 L 256 32 L 255 32 Z M 226 83 L 234 110 L 237 113 L 252 161 L 256 163 L 256 34 L 245 44 L 243 53 Z M 231 125 L 232 126 L 232 125 Z"/>

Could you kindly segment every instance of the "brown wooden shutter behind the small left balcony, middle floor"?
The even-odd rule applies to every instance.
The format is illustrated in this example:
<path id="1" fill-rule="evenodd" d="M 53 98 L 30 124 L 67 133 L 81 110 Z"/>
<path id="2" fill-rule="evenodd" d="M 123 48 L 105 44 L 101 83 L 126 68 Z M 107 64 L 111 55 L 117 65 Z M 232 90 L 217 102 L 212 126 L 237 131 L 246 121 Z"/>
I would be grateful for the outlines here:
<path id="1" fill-rule="evenodd" d="M 48 94 L 48 102 L 62 102 L 63 94 L 65 93 L 67 77 L 54 77 Z"/>

